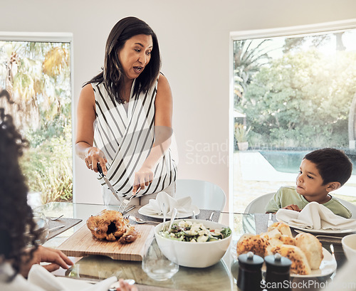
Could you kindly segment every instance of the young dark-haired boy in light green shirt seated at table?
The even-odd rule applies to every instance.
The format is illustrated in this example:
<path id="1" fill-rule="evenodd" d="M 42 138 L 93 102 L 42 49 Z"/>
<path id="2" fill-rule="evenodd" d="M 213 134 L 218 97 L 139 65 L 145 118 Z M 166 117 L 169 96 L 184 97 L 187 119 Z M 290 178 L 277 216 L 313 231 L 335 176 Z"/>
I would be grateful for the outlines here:
<path id="1" fill-rule="evenodd" d="M 267 213 L 278 209 L 301 211 L 309 202 L 315 201 L 328 207 L 338 216 L 350 218 L 352 213 L 330 195 L 350 178 L 352 163 L 338 149 L 317 149 L 303 158 L 296 187 L 281 187 L 268 202 Z"/>

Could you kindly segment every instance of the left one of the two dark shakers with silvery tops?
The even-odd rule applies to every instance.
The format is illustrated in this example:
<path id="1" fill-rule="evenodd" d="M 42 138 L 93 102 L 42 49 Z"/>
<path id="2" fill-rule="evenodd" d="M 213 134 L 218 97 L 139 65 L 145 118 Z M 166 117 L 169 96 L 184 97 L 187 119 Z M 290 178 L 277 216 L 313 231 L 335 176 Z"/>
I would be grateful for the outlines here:
<path id="1" fill-rule="evenodd" d="M 239 277 L 237 288 L 239 291 L 261 291 L 263 258 L 252 252 L 239 255 Z"/>

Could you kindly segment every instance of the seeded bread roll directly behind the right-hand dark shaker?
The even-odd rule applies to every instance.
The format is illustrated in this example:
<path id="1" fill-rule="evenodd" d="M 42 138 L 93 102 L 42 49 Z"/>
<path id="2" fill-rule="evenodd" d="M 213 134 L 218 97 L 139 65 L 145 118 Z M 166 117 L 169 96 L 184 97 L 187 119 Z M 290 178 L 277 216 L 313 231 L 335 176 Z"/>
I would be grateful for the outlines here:
<path id="1" fill-rule="evenodd" d="M 308 260 L 300 248 L 295 245 L 278 245 L 274 248 L 271 248 L 271 253 L 274 255 L 275 253 L 281 254 L 282 257 L 286 257 L 292 261 L 292 265 L 290 266 L 290 270 L 293 273 L 299 275 L 309 275 L 310 265 Z"/>

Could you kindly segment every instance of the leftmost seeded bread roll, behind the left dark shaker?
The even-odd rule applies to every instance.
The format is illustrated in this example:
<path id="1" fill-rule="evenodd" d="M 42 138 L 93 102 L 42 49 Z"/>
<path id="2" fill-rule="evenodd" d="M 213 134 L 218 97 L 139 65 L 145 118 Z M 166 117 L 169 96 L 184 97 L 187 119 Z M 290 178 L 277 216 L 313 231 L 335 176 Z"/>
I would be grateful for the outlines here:
<path id="1" fill-rule="evenodd" d="M 252 252 L 255 255 L 259 255 L 262 258 L 266 252 L 266 247 L 269 245 L 266 238 L 261 238 L 261 236 L 253 235 L 251 233 L 246 233 L 241 236 L 236 245 L 237 255 L 242 253 Z"/>

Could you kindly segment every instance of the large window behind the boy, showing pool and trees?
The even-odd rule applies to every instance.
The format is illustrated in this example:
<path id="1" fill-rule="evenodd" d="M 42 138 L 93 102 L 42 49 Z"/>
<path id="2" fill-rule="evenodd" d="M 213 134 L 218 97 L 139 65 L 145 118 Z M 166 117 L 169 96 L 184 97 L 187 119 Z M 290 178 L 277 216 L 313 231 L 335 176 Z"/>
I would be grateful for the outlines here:
<path id="1" fill-rule="evenodd" d="M 352 160 L 335 196 L 356 202 L 356 23 L 231 33 L 231 58 L 232 210 L 294 186 L 301 159 L 323 147 Z"/>

